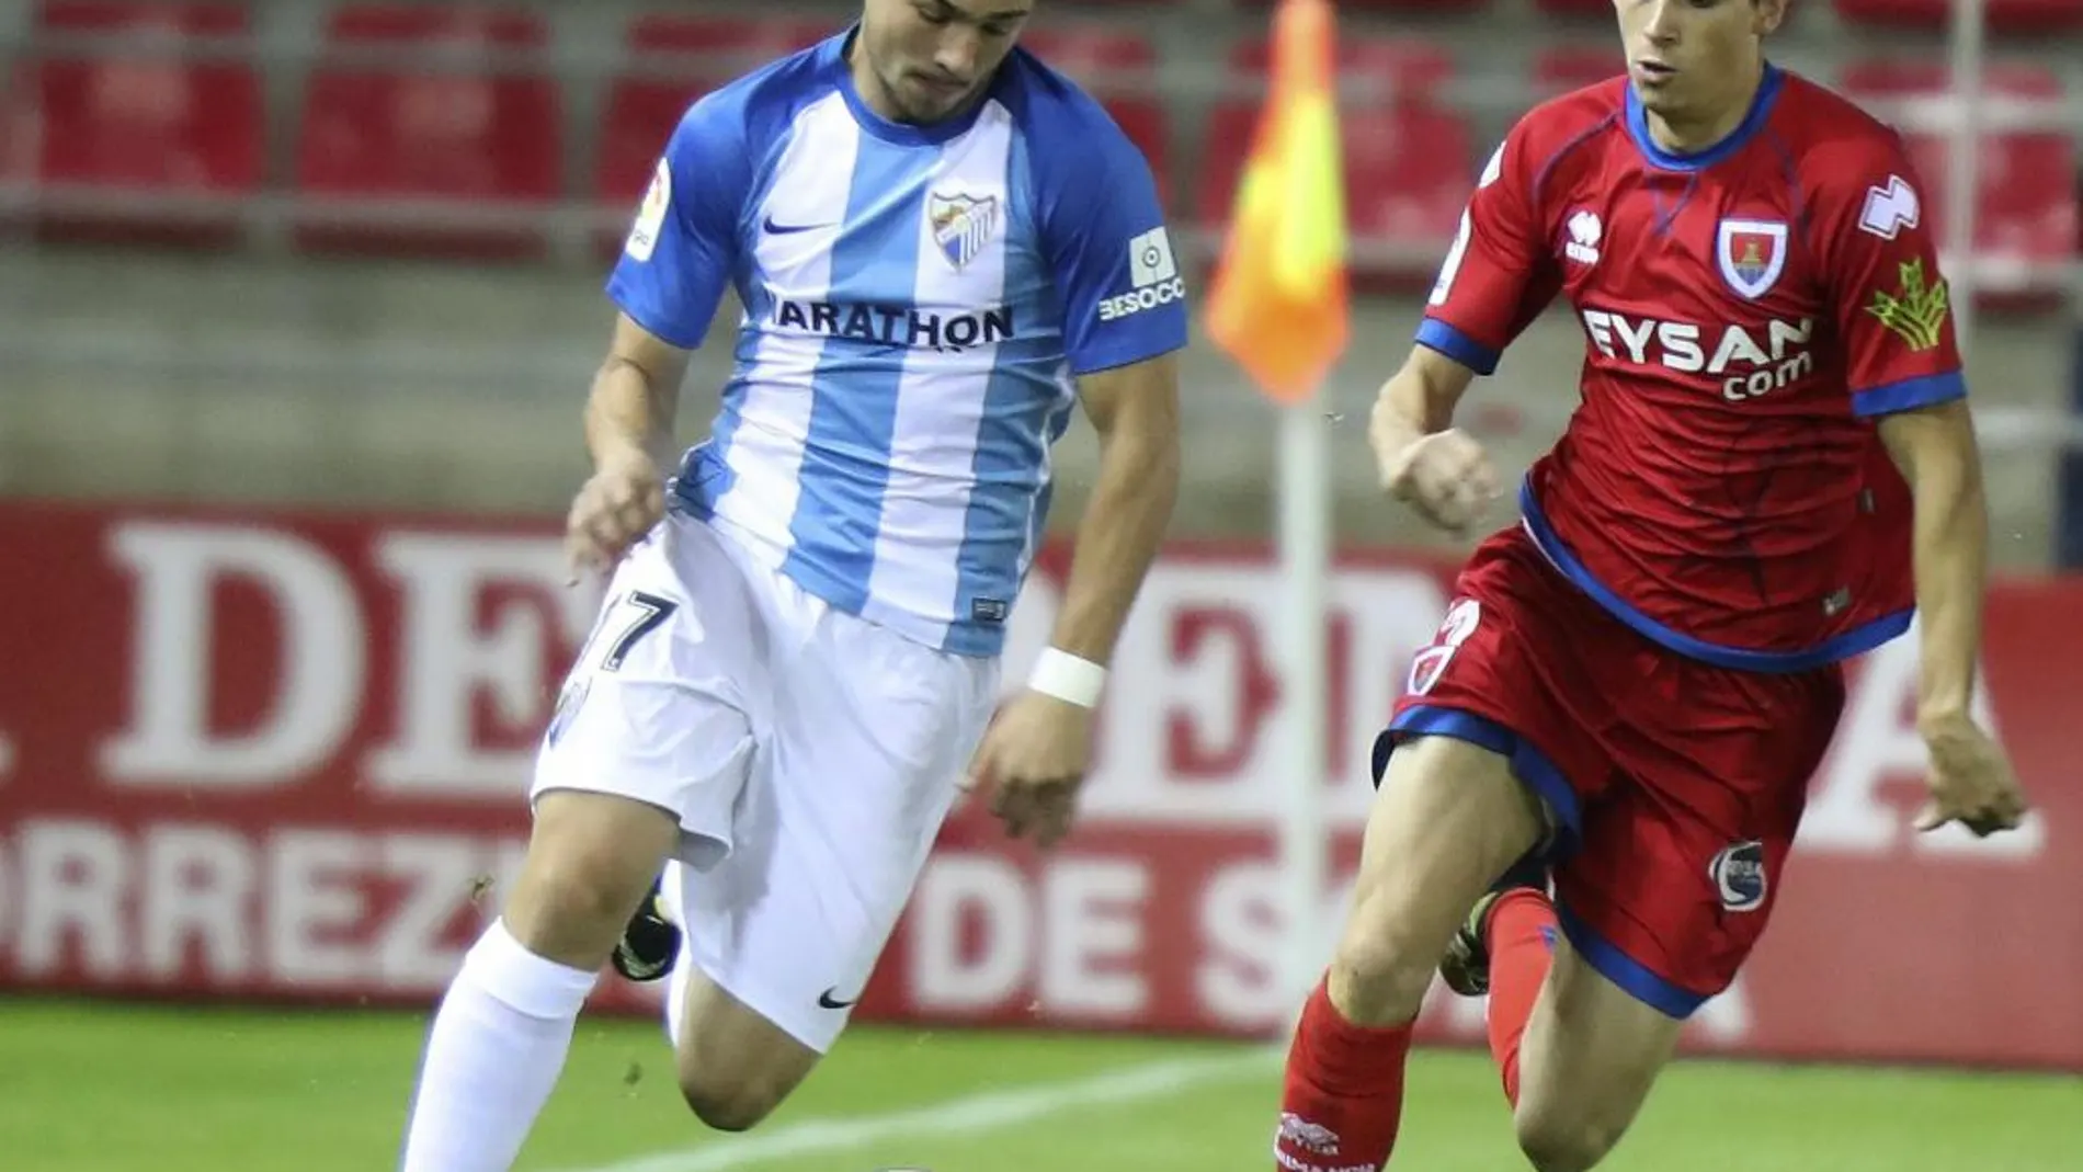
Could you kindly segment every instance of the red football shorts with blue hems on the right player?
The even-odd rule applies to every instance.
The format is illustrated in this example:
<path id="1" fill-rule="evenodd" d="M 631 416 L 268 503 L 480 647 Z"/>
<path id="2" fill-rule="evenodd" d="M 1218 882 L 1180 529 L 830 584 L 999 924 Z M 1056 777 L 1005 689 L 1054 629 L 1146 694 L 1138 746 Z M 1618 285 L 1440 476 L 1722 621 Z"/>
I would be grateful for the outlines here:
<path id="1" fill-rule="evenodd" d="M 1510 758 L 1556 816 L 1556 916 L 1608 980 L 1673 1018 L 1750 956 L 1843 710 L 1835 664 L 1764 674 L 1666 652 L 1608 614 L 1521 529 L 1456 581 L 1375 747 L 1414 735 Z"/>

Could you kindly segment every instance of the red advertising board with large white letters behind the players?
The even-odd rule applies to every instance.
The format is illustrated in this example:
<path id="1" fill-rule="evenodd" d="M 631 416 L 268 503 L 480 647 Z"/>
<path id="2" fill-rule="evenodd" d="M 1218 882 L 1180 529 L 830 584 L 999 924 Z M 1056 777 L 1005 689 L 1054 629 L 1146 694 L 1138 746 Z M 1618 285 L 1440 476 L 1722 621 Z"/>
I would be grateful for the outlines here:
<path id="1" fill-rule="evenodd" d="M 429 1001 L 521 856 L 523 791 L 596 593 L 554 527 L 0 506 L 0 987 Z M 1021 679 L 1060 550 L 1014 614 Z M 1450 568 L 1329 587 L 1335 922 L 1366 747 Z M 1269 1035 L 1298 779 L 1273 731 L 1277 568 L 1171 550 L 1116 656 L 1079 833 L 942 835 L 862 1020 Z M 2083 1068 L 2083 583 L 2004 583 L 1983 704 L 2037 812 L 1916 837 L 1914 639 L 1856 664 L 1773 928 L 1700 1051 Z M 602 991 L 608 1008 L 648 993 Z M 1425 1037 L 1475 1041 L 1439 995 Z"/>

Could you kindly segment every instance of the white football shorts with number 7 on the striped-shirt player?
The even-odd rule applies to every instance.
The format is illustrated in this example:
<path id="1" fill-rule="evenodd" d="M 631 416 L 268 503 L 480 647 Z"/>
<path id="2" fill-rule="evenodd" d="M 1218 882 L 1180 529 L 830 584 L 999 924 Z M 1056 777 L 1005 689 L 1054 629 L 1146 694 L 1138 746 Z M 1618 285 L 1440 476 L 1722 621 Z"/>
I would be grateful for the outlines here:
<path id="1" fill-rule="evenodd" d="M 623 558 L 535 762 L 679 816 L 667 901 L 700 968 L 825 1051 L 910 899 L 998 702 L 998 660 L 833 610 L 727 523 Z M 694 962 L 689 966 L 689 960 Z"/>

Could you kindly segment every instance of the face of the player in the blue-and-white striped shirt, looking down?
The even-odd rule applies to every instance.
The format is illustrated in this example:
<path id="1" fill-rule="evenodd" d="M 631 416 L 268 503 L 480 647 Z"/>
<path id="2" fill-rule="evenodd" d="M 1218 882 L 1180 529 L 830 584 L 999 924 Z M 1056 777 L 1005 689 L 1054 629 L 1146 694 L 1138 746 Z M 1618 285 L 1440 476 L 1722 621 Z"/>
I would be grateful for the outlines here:
<path id="1" fill-rule="evenodd" d="M 860 50 L 873 81 L 871 104 L 900 123 L 937 123 L 962 110 L 1012 52 L 1031 6 L 1029 0 L 867 0 Z"/>

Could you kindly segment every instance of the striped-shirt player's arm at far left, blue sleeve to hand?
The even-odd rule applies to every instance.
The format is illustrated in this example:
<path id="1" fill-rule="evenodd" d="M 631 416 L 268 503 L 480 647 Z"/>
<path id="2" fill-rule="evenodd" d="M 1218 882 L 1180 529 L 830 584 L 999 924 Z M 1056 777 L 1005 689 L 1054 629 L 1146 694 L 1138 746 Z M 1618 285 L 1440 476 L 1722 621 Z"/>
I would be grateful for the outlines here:
<path id="1" fill-rule="evenodd" d="M 564 523 L 573 570 L 606 570 L 664 514 L 679 383 L 737 269 L 750 187 L 742 104 L 729 94 L 696 102 L 658 160 L 608 279 L 621 312 L 585 400 L 594 475 Z"/>

